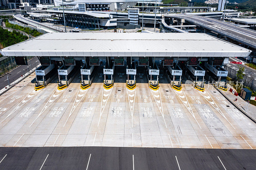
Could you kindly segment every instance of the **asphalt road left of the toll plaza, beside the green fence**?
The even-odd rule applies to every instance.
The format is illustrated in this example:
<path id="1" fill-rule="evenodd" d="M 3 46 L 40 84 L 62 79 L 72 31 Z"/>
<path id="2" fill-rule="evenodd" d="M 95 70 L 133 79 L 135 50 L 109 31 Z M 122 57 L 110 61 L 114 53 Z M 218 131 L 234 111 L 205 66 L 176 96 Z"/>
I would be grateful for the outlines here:
<path id="1" fill-rule="evenodd" d="M 37 57 L 34 57 L 31 59 L 32 69 L 36 67 L 35 62 L 37 61 Z M 6 85 L 8 85 L 7 76 L 9 76 L 10 83 L 14 82 L 18 78 L 21 77 L 21 75 L 24 75 L 23 69 L 25 70 L 25 73 L 31 70 L 30 67 L 30 61 L 28 61 L 28 65 L 20 65 L 19 67 L 13 69 L 9 73 L 5 74 L 4 76 L 0 77 L 0 89 L 3 89 Z"/>

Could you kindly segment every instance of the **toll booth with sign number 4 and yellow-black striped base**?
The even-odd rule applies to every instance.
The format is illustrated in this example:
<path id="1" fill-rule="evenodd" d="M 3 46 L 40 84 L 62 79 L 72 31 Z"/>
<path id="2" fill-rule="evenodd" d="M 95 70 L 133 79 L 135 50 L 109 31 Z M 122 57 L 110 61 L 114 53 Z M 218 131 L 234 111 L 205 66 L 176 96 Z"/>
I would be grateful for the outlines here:
<path id="1" fill-rule="evenodd" d="M 159 82 L 158 82 L 158 77 L 159 77 L 159 68 L 156 65 L 154 69 L 151 69 L 151 66 L 147 67 L 147 78 L 148 78 L 148 86 L 149 88 L 153 90 L 157 90 L 159 88 Z"/>

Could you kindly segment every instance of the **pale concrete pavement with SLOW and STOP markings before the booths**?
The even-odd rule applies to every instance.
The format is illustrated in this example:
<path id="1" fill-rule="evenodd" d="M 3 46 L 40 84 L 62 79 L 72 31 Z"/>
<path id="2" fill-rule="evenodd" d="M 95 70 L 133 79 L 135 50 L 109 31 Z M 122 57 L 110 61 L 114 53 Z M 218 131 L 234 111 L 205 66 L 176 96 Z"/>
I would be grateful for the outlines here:
<path id="1" fill-rule="evenodd" d="M 138 67 L 144 76 L 130 91 L 125 67 L 117 70 L 110 90 L 103 89 L 102 70 L 87 90 L 77 75 L 64 90 L 56 77 L 35 91 L 33 73 L 0 96 L 0 145 L 256 149 L 256 124 L 212 85 L 177 92 L 163 76 L 151 91 Z"/>

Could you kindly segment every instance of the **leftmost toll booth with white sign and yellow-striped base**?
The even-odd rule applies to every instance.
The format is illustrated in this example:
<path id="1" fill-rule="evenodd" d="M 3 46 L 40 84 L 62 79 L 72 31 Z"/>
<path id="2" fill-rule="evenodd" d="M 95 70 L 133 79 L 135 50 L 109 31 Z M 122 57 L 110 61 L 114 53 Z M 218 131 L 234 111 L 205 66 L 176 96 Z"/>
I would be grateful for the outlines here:
<path id="1" fill-rule="evenodd" d="M 56 74 L 56 67 L 54 64 L 51 65 L 42 65 L 38 69 L 36 69 L 36 82 L 35 82 L 35 90 L 40 90 L 48 85 L 54 75 Z"/>

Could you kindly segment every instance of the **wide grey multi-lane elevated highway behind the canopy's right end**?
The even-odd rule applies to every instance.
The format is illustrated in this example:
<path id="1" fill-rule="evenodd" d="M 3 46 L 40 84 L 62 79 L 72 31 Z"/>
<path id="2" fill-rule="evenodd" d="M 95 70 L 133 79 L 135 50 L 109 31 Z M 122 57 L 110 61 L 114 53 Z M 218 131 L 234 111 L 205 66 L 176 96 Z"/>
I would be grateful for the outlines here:
<path id="1" fill-rule="evenodd" d="M 256 31 L 202 16 L 185 14 L 168 14 L 163 16 L 165 18 L 185 19 L 189 23 L 201 26 L 206 30 L 213 31 L 256 49 Z"/>

